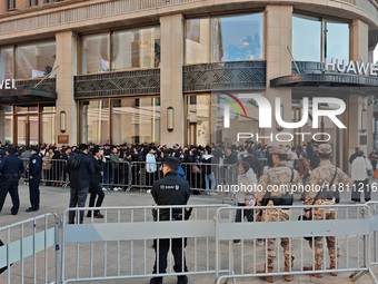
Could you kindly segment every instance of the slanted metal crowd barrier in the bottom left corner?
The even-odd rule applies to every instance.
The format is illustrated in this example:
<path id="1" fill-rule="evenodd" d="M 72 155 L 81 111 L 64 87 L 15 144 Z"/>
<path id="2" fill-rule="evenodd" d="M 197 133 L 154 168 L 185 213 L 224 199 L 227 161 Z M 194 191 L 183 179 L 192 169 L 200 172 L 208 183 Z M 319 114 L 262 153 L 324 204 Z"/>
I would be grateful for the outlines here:
<path id="1" fill-rule="evenodd" d="M 59 283 L 59 218 L 48 213 L 0 227 L 0 283 Z M 43 267 L 43 273 L 41 272 Z"/>

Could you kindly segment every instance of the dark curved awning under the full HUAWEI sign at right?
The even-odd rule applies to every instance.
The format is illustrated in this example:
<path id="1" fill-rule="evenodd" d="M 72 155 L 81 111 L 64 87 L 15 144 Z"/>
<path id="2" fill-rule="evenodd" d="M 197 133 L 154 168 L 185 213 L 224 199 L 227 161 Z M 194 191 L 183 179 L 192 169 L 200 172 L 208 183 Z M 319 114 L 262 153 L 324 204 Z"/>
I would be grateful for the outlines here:
<path id="1" fill-rule="evenodd" d="M 378 77 L 340 75 L 340 74 L 296 74 L 270 80 L 271 87 L 335 89 L 345 95 L 378 94 Z"/>

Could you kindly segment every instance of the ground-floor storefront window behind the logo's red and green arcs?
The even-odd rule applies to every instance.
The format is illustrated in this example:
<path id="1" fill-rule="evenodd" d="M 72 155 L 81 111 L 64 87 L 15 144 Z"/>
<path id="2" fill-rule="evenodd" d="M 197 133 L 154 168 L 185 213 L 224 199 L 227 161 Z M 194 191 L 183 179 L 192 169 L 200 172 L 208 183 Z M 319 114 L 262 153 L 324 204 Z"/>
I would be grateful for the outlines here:
<path id="1" fill-rule="evenodd" d="M 202 146 L 209 143 L 231 146 L 237 144 L 238 133 L 260 135 L 259 109 L 252 95 L 261 96 L 261 94 L 187 96 L 187 143 Z M 243 140 L 239 143 L 242 144 Z"/>

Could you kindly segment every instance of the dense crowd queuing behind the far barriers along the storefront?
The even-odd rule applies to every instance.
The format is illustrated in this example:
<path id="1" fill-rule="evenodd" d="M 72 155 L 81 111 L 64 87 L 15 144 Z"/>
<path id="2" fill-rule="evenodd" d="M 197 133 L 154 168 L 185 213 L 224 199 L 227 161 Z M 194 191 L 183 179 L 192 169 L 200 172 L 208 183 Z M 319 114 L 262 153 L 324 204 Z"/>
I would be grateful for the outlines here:
<path id="1" fill-rule="evenodd" d="M 4 156 L 7 145 L 0 143 L 0 158 Z M 298 170 L 302 183 L 307 183 L 307 178 L 312 169 L 319 165 L 317 156 L 318 145 L 308 143 L 297 147 L 289 145 L 284 146 L 287 150 L 287 166 Z M 247 161 L 257 178 L 261 176 L 265 169 L 272 167 L 272 146 L 253 144 L 251 140 L 246 140 L 240 146 L 225 147 L 221 144 L 211 144 L 208 146 L 179 146 L 172 147 L 166 145 L 158 146 L 149 145 L 102 145 L 90 146 L 90 149 L 99 148 L 105 158 L 103 176 L 101 184 L 103 190 L 120 190 L 130 189 L 129 185 L 139 189 L 151 188 L 152 182 L 162 177 L 161 163 L 168 156 L 177 157 L 182 165 L 183 175 L 189 180 L 193 194 L 199 194 L 202 189 L 208 195 L 216 195 L 216 186 L 222 178 L 228 178 L 230 173 L 225 173 L 226 169 L 220 170 L 221 166 L 228 167 L 228 170 L 233 170 L 237 175 L 237 164 L 239 161 Z M 72 155 L 79 153 L 77 146 L 42 146 L 40 148 L 40 156 L 42 157 L 42 180 L 47 186 L 62 186 L 68 182 L 67 164 Z M 359 153 L 360 156 L 357 155 Z M 16 156 L 22 159 L 30 159 L 32 156 L 31 147 L 17 147 Z M 356 148 L 356 153 L 351 155 L 349 163 L 352 164 L 355 157 L 366 157 L 360 148 Z M 360 160 L 360 159 L 357 159 Z M 372 169 L 377 168 L 378 153 L 374 149 L 366 158 L 366 166 Z M 63 161 L 63 163 L 62 163 Z M 135 166 L 130 169 L 131 163 Z M 354 180 L 361 180 L 360 176 L 356 176 L 360 167 L 352 167 L 351 175 Z M 358 202 L 358 198 L 354 198 Z"/>

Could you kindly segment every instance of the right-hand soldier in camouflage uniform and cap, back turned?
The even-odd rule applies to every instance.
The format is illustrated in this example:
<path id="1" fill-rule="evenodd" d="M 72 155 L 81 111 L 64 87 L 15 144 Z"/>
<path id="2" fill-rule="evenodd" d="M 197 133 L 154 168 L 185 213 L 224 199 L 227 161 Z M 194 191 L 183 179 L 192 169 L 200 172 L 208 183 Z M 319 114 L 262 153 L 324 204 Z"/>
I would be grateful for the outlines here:
<path id="1" fill-rule="evenodd" d="M 340 168 L 337 168 L 330 163 L 332 157 L 332 148 L 329 144 L 319 145 L 318 156 L 320 158 L 320 164 L 317 168 L 315 168 L 309 177 L 309 193 L 307 193 L 305 205 L 335 205 L 339 203 L 339 187 L 344 187 L 344 190 L 351 190 L 352 183 L 349 179 L 348 175 L 346 175 Z M 337 168 L 337 173 L 335 175 Z M 335 179 L 334 179 L 335 177 Z M 330 183 L 334 183 L 331 186 Z M 316 188 L 318 186 L 318 189 Z M 327 197 L 318 195 L 319 186 L 324 189 L 327 189 Z M 321 198 L 324 197 L 324 198 Z M 336 217 L 336 208 L 315 208 L 314 209 L 314 219 L 324 219 L 324 210 L 326 210 L 326 219 L 335 219 Z M 309 218 L 311 215 L 311 209 L 306 209 L 306 216 Z M 328 236 L 327 247 L 330 256 L 330 270 L 337 268 L 336 263 L 336 247 L 335 247 L 335 236 Z M 309 245 L 312 249 L 312 239 L 309 241 Z M 315 270 L 321 270 L 321 263 L 324 257 L 324 237 L 315 237 Z M 340 256 L 340 247 L 337 247 L 337 259 Z M 311 267 L 304 267 L 305 271 L 312 271 Z M 314 276 L 321 278 L 321 273 L 312 274 Z M 332 276 L 337 276 L 337 273 L 331 273 Z"/>

